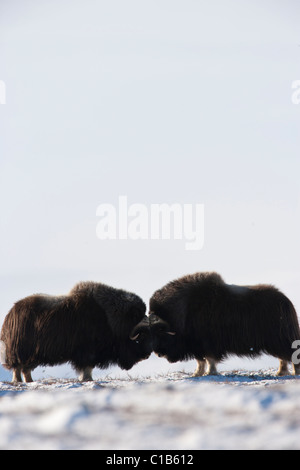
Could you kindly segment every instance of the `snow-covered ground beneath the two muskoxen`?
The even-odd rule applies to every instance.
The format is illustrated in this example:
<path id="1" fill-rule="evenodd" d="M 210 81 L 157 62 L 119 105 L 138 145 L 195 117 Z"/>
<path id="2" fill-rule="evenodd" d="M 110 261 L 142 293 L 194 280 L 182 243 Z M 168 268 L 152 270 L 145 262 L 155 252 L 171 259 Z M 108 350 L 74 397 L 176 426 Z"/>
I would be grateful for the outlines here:
<path id="1" fill-rule="evenodd" d="M 276 369 L 0 382 L 0 449 L 300 449 L 300 380 Z"/>

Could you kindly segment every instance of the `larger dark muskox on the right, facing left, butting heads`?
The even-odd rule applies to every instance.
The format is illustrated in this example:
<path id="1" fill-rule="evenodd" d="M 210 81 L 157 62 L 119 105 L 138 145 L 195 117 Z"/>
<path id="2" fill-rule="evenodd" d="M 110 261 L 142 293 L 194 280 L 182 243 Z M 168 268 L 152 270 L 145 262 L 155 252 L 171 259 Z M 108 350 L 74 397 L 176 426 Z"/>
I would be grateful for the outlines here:
<path id="1" fill-rule="evenodd" d="M 278 289 L 225 284 L 217 273 L 187 275 L 157 290 L 149 321 L 154 352 L 169 362 L 195 358 L 194 376 L 203 375 L 206 364 L 206 374 L 216 374 L 217 362 L 228 355 L 261 353 L 279 358 L 278 375 L 287 375 L 300 339 L 293 304 Z"/>

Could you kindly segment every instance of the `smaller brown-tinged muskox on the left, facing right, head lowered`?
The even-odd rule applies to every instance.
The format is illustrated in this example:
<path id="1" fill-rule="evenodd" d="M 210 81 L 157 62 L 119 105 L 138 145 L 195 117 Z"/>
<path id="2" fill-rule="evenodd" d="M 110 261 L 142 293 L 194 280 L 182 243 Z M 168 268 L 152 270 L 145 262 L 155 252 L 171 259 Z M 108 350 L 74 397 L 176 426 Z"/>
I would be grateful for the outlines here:
<path id="1" fill-rule="evenodd" d="M 152 352 L 146 305 L 101 283 L 77 284 L 68 295 L 31 295 L 16 302 L 1 330 L 2 362 L 13 381 L 32 381 L 41 365 L 69 362 L 80 380 L 94 367 L 130 369 Z"/>

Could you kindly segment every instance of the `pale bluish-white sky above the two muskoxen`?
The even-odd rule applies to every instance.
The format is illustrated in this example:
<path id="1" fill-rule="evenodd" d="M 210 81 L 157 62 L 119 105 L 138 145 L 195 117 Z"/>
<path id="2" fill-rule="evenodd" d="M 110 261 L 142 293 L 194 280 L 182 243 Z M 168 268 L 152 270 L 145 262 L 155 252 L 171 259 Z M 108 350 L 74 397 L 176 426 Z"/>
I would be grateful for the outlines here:
<path id="1" fill-rule="evenodd" d="M 0 318 L 92 279 L 273 283 L 300 311 L 298 0 L 3 0 Z M 96 209 L 205 206 L 205 242 L 100 241 Z"/>

